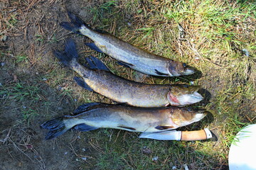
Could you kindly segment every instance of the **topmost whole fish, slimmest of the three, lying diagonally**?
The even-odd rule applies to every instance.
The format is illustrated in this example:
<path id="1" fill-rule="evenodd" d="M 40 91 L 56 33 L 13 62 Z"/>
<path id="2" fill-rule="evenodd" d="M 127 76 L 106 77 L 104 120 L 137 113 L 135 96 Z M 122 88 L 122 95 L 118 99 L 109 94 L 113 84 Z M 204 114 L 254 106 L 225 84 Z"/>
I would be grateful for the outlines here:
<path id="1" fill-rule="evenodd" d="M 166 57 L 154 55 L 128 42 L 124 42 L 110 33 L 92 30 L 71 12 L 68 12 L 68 16 L 71 22 L 60 23 L 60 26 L 90 38 L 93 42 L 85 43 L 85 45 L 97 52 L 103 52 L 113 57 L 115 60 L 119 61 L 117 62 L 119 64 L 144 74 L 161 77 L 176 77 L 193 74 L 195 72 L 195 69 L 188 67 L 187 64 L 183 62 L 177 62 Z"/>

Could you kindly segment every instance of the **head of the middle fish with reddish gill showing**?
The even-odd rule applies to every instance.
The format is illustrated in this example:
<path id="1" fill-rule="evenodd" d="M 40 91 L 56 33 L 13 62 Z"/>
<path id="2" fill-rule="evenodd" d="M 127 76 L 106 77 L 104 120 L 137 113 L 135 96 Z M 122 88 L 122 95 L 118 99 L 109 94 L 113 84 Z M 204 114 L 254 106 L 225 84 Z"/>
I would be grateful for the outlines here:
<path id="1" fill-rule="evenodd" d="M 198 103 L 203 96 L 198 93 L 200 86 L 177 85 L 172 86 L 167 98 L 171 106 L 186 106 Z"/>

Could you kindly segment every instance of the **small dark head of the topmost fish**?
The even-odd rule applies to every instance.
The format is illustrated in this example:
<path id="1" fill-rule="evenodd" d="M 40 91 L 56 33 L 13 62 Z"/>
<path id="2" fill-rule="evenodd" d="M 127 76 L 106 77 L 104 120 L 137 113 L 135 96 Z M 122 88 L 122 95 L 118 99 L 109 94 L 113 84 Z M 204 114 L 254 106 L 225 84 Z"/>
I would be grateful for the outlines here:
<path id="1" fill-rule="evenodd" d="M 168 66 L 168 72 L 170 76 L 182 76 L 193 74 L 195 72 L 195 69 L 188 67 L 186 63 L 171 60 Z"/>

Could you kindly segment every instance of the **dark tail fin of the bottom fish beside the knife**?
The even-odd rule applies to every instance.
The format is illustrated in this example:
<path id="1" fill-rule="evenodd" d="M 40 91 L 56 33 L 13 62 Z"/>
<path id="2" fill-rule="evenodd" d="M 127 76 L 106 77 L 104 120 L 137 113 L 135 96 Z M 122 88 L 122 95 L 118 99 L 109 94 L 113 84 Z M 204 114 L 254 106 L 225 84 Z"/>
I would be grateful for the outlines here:
<path id="1" fill-rule="evenodd" d="M 70 128 L 68 128 L 65 125 L 65 122 L 63 120 L 65 120 L 66 116 L 61 116 L 59 118 L 54 118 L 52 120 L 48 120 L 45 123 L 43 123 L 40 127 L 43 129 L 48 129 L 50 130 L 47 135 L 46 135 L 46 140 L 52 140 L 55 137 L 58 137 L 60 135 L 63 135 L 63 133 L 67 132 L 68 130 L 70 130 Z"/>

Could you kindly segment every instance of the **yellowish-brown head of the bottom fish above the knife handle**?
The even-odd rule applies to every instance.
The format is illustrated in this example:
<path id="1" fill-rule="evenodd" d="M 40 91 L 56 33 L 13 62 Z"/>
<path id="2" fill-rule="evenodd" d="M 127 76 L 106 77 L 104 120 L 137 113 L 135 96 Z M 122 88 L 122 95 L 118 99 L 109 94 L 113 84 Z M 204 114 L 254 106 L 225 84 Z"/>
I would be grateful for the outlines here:
<path id="1" fill-rule="evenodd" d="M 172 108 L 171 120 L 179 127 L 190 125 L 206 117 L 206 109 Z"/>

